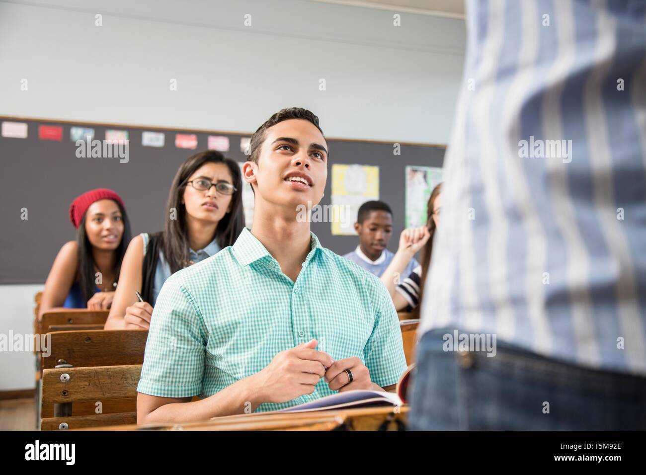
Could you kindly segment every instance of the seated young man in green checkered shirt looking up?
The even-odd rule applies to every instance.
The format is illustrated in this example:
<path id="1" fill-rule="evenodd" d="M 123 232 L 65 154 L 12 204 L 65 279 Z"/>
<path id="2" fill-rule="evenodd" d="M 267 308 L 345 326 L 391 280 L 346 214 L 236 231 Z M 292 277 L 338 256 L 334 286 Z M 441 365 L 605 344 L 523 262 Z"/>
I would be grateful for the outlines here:
<path id="1" fill-rule="evenodd" d="M 320 202 L 328 178 L 317 116 L 277 112 L 250 147 L 242 173 L 255 192 L 253 227 L 163 285 L 137 388 L 139 423 L 393 390 L 406 369 L 386 288 L 323 248 L 298 212 Z"/>

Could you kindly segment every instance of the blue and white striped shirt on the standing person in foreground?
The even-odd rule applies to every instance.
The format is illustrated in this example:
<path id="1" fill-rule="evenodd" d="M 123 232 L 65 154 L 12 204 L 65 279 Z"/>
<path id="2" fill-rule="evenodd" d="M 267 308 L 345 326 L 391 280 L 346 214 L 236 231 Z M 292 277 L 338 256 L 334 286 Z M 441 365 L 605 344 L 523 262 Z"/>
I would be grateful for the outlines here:
<path id="1" fill-rule="evenodd" d="M 467 21 L 420 334 L 645 375 L 646 3 L 470 1 Z"/>

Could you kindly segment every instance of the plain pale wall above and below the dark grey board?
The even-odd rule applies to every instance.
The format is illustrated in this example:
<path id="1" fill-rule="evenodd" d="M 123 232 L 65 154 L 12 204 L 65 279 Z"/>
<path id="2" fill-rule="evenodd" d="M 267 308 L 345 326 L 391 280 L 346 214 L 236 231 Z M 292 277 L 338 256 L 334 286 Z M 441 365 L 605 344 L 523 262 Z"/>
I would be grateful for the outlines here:
<path id="1" fill-rule="evenodd" d="M 401 13 L 393 26 L 395 13 L 306 0 L 0 1 L 0 115 L 250 133 L 298 105 L 331 138 L 446 143 L 464 22 Z M 41 288 L 0 286 L 1 332 L 31 331 Z M 0 390 L 32 387 L 32 363 L 0 353 Z"/>

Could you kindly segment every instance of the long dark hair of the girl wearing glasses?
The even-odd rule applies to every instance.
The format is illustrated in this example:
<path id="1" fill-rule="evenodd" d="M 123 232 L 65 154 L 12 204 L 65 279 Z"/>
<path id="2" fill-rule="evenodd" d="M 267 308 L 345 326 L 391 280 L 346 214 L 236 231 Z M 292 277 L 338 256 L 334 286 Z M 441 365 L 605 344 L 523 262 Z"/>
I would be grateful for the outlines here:
<path id="1" fill-rule="evenodd" d="M 225 164 L 231 172 L 233 186 L 236 190 L 231 196 L 231 211 L 225 214 L 218 222 L 215 238 L 220 249 L 231 246 L 240 235 L 244 227 L 242 214 L 242 175 L 240 167 L 231 158 L 225 158 L 220 152 L 209 150 L 189 156 L 172 180 L 171 191 L 168 196 L 166 220 L 163 228 L 163 255 L 171 267 L 171 272 L 185 268 L 189 256 L 189 233 L 186 224 L 186 208 L 182 204 L 182 196 L 187 186 L 187 181 L 196 170 L 207 163 Z M 174 219 L 171 219 L 171 210 L 175 209 Z M 197 249 L 196 249 L 197 250 Z"/>

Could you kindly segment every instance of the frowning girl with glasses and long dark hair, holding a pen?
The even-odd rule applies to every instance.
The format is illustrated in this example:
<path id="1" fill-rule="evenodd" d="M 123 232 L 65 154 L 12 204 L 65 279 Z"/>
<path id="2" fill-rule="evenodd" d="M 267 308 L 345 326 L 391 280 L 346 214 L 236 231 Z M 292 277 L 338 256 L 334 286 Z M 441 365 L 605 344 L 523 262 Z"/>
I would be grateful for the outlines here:
<path id="1" fill-rule="evenodd" d="M 128 246 L 105 329 L 149 328 L 165 280 L 231 246 L 243 226 L 238 164 L 216 151 L 187 158 L 172 181 L 164 230 Z"/>

